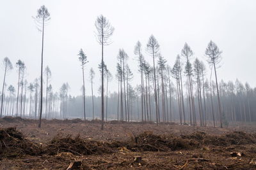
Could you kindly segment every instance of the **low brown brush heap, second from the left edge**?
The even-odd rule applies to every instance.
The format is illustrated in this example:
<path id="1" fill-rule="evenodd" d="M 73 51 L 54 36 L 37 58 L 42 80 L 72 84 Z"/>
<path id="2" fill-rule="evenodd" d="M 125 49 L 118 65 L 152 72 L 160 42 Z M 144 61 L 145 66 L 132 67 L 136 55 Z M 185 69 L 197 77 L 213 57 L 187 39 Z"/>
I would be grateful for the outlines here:
<path id="1" fill-rule="evenodd" d="M 75 155 L 100 155 L 113 153 L 114 150 L 106 143 L 83 139 L 79 135 L 76 138 L 56 136 L 51 143 L 45 146 L 44 153 L 57 155 L 60 152 L 71 152 Z"/>

